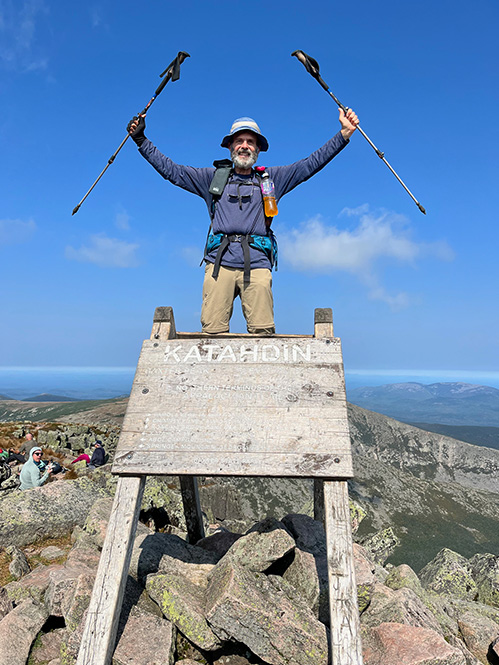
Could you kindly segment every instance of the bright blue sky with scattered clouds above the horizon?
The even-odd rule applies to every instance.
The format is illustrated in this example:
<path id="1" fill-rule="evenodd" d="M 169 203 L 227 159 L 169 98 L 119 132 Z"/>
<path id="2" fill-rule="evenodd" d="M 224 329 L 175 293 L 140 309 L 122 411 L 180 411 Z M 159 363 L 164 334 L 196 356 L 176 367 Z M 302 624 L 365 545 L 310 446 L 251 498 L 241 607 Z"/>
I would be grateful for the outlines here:
<path id="1" fill-rule="evenodd" d="M 492 0 L 0 0 L 0 366 L 133 366 L 158 305 L 199 330 L 201 199 L 128 142 L 71 211 L 180 50 L 147 117 L 165 154 L 210 165 L 249 115 L 260 163 L 308 155 L 339 125 L 303 49 L 428 214 L 355 135 L 281 201 L 277 332 L 332 307 L 347 370 L 499 371 L 498 17 Z"/>

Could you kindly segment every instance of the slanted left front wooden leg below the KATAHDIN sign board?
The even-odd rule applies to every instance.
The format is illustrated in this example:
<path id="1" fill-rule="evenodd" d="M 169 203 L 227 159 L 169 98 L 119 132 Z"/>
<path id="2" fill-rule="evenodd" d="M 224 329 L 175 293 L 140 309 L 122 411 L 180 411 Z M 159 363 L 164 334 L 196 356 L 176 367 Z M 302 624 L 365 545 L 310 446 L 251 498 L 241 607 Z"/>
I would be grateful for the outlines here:
<path id="1" fill-rule="evenodd" d="M 118 480 L 77 665 L 111 662 L 144 484 L 145 476 Z"/>

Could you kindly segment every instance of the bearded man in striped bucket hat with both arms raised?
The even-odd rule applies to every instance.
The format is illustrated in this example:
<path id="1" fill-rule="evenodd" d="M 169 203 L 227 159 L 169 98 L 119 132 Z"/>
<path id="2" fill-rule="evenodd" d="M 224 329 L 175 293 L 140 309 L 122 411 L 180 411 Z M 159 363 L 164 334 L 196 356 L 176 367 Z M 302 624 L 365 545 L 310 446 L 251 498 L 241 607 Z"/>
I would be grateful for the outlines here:
<path id="1" fill-rule="evenodd" d="M 128 123 L 127 130 L 140 154 L 158 173 L 201 196 L 208 206 L 212 223 L 204 253 L 204 333 L 229 331 L 237 296 L 241 298 L 249 333 L 275 333 L 271 271 L 277 247 L 270 225 L 277 214 L 276 202 L 328 164 L 347 145 L 358 124 L 352 109 L 346 113 L 340 109 L 341 129 L 325 145 L 294 164 L 267 169 L 254 168 L 260 152 L 268 150 L 267 139 L 253 119 L 239 118 L 221 143 L 230 150 L 232 162 L 215 162 L 219 167 L 216 170 L 182 166 L 165 157 L 146 138 L 144 116 L 135 116 Z M 273 185 L 273 191 L 267 197 L 265 188 L 269 185 L 270 190 Z M 270 208 L 264 208 L 265 198 L 269 199 Z"/>

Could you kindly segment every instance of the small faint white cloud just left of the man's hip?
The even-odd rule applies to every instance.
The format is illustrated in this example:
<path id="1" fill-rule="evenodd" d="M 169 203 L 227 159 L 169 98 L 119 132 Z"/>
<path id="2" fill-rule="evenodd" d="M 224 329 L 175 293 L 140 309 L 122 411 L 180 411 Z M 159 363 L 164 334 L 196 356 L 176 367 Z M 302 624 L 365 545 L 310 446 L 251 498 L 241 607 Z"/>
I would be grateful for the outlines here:
<path id="1" fill-rule="evenodd" d="M 135 268 L 139 265 L 135 255 L 139 245 L 117 238 L 108 238 L 103 233 L 91 236 L 89 245 L 79 249 L 66 247 L 65 256 L 71 261 L 95 263 L 101 268 Z"/>

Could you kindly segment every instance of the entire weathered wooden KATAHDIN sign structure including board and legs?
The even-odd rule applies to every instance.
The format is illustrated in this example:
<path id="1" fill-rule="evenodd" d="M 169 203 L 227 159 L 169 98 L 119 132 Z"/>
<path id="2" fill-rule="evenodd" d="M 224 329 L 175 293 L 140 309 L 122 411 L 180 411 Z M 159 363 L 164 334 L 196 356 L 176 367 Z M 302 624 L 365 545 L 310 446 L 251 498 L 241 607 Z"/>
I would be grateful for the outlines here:
<path id="1" fill-rule="evenodd" d="M 314 515 L 327 538 L 331 662 L 362 665 L 346 482 L 353 469 L 331 309 L 315 310 L 314 335 L 210 337 L 178 332 L 172 308 L 158 307 L 112 471 L 120 476 L 121 498 L 110 524 L 125 519 L 130 526 L 123 533 L 108 528 L 97 577 L 102 588 L 96 582 L 77 665 L 110 663 L 148 475 L 180 476 L 191 542 L 203 536 L 197 475 L 313 478 Z M 97 621 L 99 614 L 105 617 Z"/>

